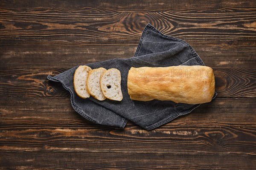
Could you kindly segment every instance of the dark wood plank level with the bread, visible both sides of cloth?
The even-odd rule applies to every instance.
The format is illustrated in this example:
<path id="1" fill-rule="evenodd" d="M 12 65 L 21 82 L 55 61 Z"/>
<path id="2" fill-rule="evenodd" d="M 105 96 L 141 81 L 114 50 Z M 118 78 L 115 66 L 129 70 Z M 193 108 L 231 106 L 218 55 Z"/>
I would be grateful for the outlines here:
<path id="1" fill-rule="evenodd" d="M 0 69 L 0 96 L 70 96 L 60 83 L 47 80 L 66 69 Z M 255 68 L 214 68 L 217 97 L 256 97 Z"/>

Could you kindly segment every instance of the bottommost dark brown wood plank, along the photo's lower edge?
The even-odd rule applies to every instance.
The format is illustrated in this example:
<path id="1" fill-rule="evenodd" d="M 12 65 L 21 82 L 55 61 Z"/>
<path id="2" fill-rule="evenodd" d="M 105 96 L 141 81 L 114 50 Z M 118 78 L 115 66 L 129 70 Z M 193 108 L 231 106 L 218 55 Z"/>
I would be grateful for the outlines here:
<path id="1" fill-rule="evenodd" d="M 3 152 L 1 169 L 252 170 L 255 155 L 115 152 Z M 214 160 L 214 161 L 213 161 Z"/>

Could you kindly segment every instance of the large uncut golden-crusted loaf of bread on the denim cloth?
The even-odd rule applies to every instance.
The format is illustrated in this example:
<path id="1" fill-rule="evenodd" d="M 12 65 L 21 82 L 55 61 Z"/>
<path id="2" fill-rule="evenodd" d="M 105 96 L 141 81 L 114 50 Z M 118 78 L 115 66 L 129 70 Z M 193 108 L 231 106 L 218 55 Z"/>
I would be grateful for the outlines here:
<path id="1" fill-rule="evenodd" d="M 133 100 L 171 100 L 176 103 L 210 102 L 215 92 L 212 68 L 201 65 L 131 68 L 127 79 Z"/>

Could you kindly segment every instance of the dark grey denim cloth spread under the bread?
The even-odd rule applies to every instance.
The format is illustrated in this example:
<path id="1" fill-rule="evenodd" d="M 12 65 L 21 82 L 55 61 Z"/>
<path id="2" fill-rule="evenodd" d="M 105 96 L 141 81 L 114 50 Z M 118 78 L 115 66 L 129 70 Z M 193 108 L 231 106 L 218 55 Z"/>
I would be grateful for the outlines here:
<path id="1" fill-rule="evenodd" d="M 81 63 L 83 65 L 83 63 Z M 73 75 L 78 66 L 71 68 L 49 80 L 61 82 L 71 94 L 73 108 L 91 122 L 115 127 L 125 127 L 126 122 L 140 125 L 146 130 L 154 129 L 180 115 L 190 113 L 198 105 L 152 100 L 141 102 L 131 100 L 127 90 L 127 76 L 131 67 L 167 67 L 174 65 L 204 65 L 194 49 L 183 40 L 162 34 L 148 24 L 140 38 L 134 57 L 110 59 L 86 64 L 90 68 L 117 68 L 121 72 L 123 99 L 121 102 L 106 99 L 99 101 L 90 96 L 81 99 L 73 87 Z M 215 98 L 217 94 L 213 96 Z"/>

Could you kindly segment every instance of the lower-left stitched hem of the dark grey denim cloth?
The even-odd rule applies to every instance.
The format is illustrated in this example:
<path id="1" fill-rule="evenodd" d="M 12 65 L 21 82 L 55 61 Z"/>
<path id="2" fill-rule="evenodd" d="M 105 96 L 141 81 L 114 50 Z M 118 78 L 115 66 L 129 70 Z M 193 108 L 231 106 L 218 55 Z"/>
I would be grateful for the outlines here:
<path id="1" fill-rule="evenodd" d="M 70 101 L 71 101 L 71 105 L 73 107 L 73 109 L 79 113 L 81 116 L 83 116 L 85 119 L 89 120 L 90 122 L 93 122 L 93 123 L 97 123 L 99 125 L 103 125 L 103 124 L 100 124 L 98 122 L 96 122 L 94 119 L 90 118 L 89 116 L 87 116 L 86 114 L 83 113 L 83 111 L 81 111 L 76 105 L 74 105 L 73 103 L 73 100 L 72 100 L 72 97 L 73 97 L 73 94 L 71 93 L 71 91 L 65 87 L 64 83 L 61 81 L 61 80 L 58 80 L 58 79 L 55 79 L 54 77 L 52 77 L 51 75 L 48 75 L 47 76 L 47 79 L 51 80 L 51 81 L 54 81 L 54 82 L 61 82 L 62 86 L 70 92 Z M 107 109 L 107 108 L 106 108 Z M 116 128 L 124 128 L 125 125 L 127 124 L 128 122 L 128 119 L 125 119 L 123 118 L 122 119 L 122 124 L 121 125 L 117 125 L 117 126 L 113 126 L 113 127 L 116 127 Z M 110 125 L 107 125 L 107 126 L 110 126 Z"/>

